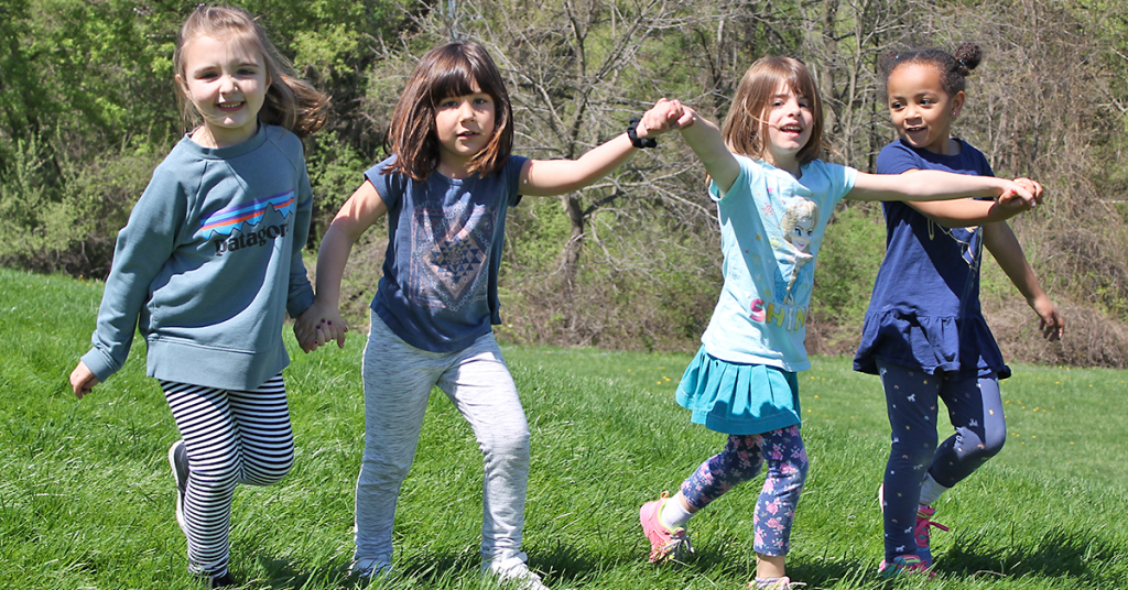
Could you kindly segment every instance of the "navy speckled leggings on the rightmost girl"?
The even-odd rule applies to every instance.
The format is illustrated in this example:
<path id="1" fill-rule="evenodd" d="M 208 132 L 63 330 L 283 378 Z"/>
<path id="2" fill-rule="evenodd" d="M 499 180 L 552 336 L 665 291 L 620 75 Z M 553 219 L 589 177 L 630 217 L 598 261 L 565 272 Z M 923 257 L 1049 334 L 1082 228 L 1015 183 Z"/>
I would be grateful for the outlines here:
<path id="1" fill-rule="evenodd" d="M 1006 420 L 994 373 L 953 379 L 880 360 L 878 371 L 892 426 L 883 479 L 885 558 L 891 560 L 916 549 L 913 527 L 925 473 L 944 487 L 954 486 L 1003 449 Z M 944 400 L 955 428 L 940 447 L 937 399 Z"/>

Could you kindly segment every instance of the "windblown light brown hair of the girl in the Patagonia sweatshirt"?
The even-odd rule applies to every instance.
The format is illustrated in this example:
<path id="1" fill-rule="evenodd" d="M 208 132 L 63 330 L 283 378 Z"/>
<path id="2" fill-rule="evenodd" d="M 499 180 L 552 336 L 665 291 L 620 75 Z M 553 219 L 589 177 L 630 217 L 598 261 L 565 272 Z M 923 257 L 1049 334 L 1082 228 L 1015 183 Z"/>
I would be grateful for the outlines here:
<path id="1" fill-rule="evenodd" d="M 305 138 L 325 125 L 329 112 L 329 98 L 309 82 L 293 73 L 290 61 L 283 58 L 266 38 L 266 33 L 255 17 L 241 8 L 200 5 L 180 26 L 173 53 L 173 67 L 182 80 L 185 79 L 184 46 L 196 37 L 212 37 L 228 42 L 249 43 L 263 55 L 266 77 L 266 100 L 258 111 L 258 121 L 267 125 L 281 125 L 299 138 Z M 177 88 L 180 117 L 188 126 L 195 126 L 200 114 Z"/>

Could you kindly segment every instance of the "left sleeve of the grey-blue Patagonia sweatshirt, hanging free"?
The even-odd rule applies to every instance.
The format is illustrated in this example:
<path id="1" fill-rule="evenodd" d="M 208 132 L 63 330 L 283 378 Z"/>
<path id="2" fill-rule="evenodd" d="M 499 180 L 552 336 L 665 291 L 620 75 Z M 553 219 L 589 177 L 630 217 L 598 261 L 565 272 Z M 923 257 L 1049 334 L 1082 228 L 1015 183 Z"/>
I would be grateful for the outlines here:
<path id="1" fill-rule="evenodd" d="M 100 382 L 117 372 L 129 358 L 153 279 L 179 239 L 187 197 L 184 184 L 165 166 L 158 167 L 125 228 L 117 234 L 97 327 L 90 338 L 92 346 L 82 355 L 82 362 Z"/>

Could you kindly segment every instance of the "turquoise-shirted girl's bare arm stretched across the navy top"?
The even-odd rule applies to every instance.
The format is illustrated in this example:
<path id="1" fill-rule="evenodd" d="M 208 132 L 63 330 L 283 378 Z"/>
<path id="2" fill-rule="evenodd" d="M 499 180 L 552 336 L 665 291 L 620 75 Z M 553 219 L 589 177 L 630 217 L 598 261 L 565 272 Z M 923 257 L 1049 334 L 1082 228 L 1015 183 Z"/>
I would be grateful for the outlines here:
<path id="1" fill-rule="evenodd" d="M 1034 195 L 1020 183 L 994 176 L 968 176 L 940 170 L 918 170 L 906 182 L 899 174 L 858 173 L 846 199 L 858 201 L 941 201 L 998 196 L 1033 204 Z"/>

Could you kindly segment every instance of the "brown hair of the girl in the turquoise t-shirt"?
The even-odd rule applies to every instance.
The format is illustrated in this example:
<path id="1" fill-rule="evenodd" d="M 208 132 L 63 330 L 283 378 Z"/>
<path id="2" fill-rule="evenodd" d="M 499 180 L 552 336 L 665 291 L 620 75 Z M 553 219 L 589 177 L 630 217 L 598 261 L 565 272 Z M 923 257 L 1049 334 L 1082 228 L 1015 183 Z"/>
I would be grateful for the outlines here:
<path id="1" fill-rule="evenodd" d="M 811 139 L 795 155 L 800 165 L 822 155 L 822 100 L 814 85 L 814 77 L 803 62 L 794 58 L 760 58 L 756 60 L 737 87 L 737 95 L 724 117 L 721 134 L 733 153 L 764 159 L 767 153 L 767 117 L 764 114 L 775 98 L 781 83 L 786 83 L 796 95 L 810 100 L 814 125 Z"/>

